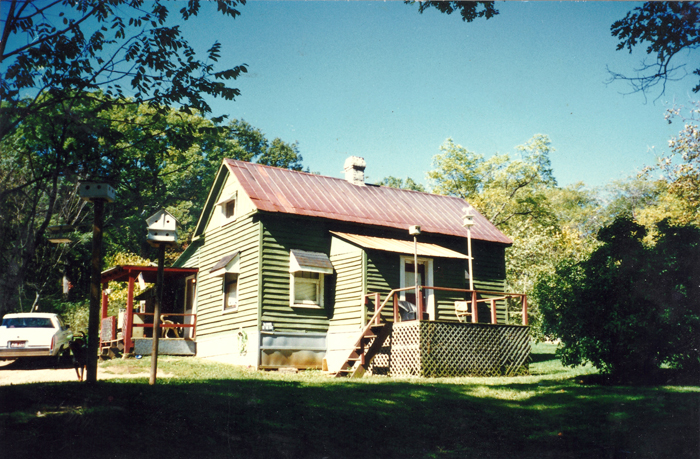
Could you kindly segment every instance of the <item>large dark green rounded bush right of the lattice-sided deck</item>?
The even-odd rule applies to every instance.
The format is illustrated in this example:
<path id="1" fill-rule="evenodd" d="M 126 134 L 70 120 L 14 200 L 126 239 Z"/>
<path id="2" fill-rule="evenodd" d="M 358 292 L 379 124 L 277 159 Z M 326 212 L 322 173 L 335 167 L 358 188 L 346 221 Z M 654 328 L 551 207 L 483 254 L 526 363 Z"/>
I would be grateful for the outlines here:
<path id="1" fill-rule="evenodd" d="M 561 340 L 567 365 L 590 362 L 624 377 L 645 377 L 661 364 L 700 368 L 700 229 L 646 228 L 619 217 L 598 233 L 583 261 L 565 260 L 534 288 L 543 331 Z"/>

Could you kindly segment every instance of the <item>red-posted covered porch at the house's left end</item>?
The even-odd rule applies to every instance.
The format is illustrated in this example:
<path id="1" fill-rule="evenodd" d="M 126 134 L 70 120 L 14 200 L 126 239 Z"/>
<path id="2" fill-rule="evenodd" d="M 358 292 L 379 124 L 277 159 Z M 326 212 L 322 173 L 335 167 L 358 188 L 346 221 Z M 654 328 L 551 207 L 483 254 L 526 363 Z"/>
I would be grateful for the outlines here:
<path id="1" fill-rule="evenodd" d="M 197 315 L 196 268 L 164 268 L 164 294 L 158 353 L 164 355 L 195 355 Z M 102 313 L 100 350 L 103 355 L 117 352 L 148 355 L 152 349 L 153 307 L 158 268 L 155 266 L 116 266 L 102 272 Z M 126 282 L 126 307 L 118 315 L 109 316 L 109 282 Z M 135 295 L 139 285 L 141 293 Z"/>

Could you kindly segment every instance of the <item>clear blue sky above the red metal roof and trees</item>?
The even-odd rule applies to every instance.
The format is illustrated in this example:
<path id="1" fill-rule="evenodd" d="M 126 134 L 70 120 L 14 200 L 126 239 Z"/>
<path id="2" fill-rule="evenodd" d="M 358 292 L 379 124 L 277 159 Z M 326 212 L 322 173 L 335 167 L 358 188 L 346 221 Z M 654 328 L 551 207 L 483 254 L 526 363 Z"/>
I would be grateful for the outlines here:
<path id="1" fill-rule="evenodd" d="M 429 185 L 448 137 L 489 156 L 547 134 L 559 184 L 595 187 L 654 163 L 681 129 L 665 109 L 693 97 L 691 77 L 655 102 L 606 85 L 606 66 L 632 73 L 644 58 L 615 51 L 610 34 L 636 5 L 506 2 L 464 23 L 398 1 L 250 2 L 233 21 L 205 13 L 184 27 L 201 49 L 222 43 L 222 67 L 249 66 L 242 95 L 213 101 L 213 114 L 298 141 L 312 171 L 340 177 L 357 155 L 367 181 Z M 696 67 L 697 53 L 682 58 Z"/>

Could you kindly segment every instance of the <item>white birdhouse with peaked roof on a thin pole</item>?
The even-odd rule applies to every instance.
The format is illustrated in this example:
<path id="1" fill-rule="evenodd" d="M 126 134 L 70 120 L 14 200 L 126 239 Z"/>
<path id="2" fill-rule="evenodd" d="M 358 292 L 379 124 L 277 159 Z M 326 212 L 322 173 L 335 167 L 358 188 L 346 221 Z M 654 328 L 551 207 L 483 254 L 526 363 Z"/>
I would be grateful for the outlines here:
<path id="1" fill-rule="evenodd" d="M 158 372 L 158 342 L 160 338 L 160 309 L 163 301 L 163 265 L 165 248 L 177 244 L 177 220 L 165 209 L 161 209 L 146 219 L 148 235 L 146 241 L 158 247 L 158 278 L 156 280 L 156 304 L 153 308 L 153 346 L 151 347 L 150 385 L 156 383 Z"/>

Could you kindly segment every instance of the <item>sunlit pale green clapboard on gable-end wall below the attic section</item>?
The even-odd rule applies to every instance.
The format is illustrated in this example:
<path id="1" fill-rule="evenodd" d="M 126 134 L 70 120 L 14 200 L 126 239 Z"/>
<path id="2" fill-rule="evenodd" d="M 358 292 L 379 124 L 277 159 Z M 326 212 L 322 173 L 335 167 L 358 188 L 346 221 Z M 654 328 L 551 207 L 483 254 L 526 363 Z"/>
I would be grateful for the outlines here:
<path id="1" fill-rule="evenodd" d="M 197 336 L 257 327 L 259 231 L 252 215 L 207 229 L 204 244 L 197 251 Z M 236 250 L 240 251 L 238 310 L 224 312 L 223 280 L 210 276 L 209 271 L 222 257 Z"/>

